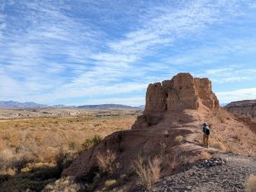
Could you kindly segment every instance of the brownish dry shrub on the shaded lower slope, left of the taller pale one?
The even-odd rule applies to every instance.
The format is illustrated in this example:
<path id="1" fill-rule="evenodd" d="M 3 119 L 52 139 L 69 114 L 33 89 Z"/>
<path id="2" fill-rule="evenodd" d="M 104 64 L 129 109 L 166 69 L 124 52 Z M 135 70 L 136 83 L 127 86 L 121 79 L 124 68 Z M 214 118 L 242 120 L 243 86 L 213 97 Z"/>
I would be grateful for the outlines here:
<path id="1" fill-rule="evenodd" d="M 116 162 L 116 154 L 110 150 L 107 150 L 104 154 L 97 154 L 96 159 L 102 172 L 113 173 L 119 168 L 119 163 Z"/>

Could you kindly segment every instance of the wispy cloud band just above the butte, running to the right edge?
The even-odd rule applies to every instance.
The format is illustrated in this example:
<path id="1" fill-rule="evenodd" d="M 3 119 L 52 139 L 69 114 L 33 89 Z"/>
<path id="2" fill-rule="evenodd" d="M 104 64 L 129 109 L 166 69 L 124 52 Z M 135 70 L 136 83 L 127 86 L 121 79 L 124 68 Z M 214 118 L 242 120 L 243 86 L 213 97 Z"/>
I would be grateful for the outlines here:
<path id="1" fill-rule="evenodd" d="M 220 62 L 226 62 L 225 59 L 230 59 L 231 55 L 239 56 L 255 52 L 255 36 L 253 38 L 226 39 L 219 37 L 214 32 L 212 32 L 212 35 L 215 36 L 214 44 L 206 42 L 200 47 L 186 49 L 182 53 L 177 53 L 173 56 L 165 56 L 162 60 L 181 67 L 189 67 L 191 65 L 196 67 L 212 67 L 212 65 Z M 216 40 L 218 44 L 216 44 Z M 223 63 L 223 65 L 226 66 L 229 63 Z"/>

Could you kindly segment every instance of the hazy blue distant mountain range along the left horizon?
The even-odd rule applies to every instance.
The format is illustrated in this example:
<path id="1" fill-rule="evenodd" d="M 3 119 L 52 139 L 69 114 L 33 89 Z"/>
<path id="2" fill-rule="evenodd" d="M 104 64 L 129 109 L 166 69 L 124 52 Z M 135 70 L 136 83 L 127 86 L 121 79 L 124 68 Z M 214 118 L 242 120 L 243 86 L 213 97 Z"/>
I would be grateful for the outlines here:
<path id="1" fill-rule="evenodd" d="M 36 102 L 14 102 L 0 101 L 0 108 L 90 108 L 90 109 L 107 109 L 107 108 L 126 108 L 126 109 L 143 109 L 144 105 L 139 107 L 131 107 L 119 104 L 101 104 L 101 105 L 82 105 L 82 106 L 66 106 L 66 105 L 43 105 Z"/>

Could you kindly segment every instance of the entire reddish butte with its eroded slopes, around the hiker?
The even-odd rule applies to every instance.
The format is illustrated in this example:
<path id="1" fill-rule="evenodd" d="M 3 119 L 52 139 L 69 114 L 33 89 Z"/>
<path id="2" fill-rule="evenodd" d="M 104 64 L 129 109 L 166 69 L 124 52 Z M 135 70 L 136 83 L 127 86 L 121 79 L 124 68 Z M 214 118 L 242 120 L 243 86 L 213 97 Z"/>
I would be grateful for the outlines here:
<path id="1" fill-rule="evenodd" d="M 120 174 L 132 172 L 134 160 L 141 155 L 144 159 L 159 157 L 161 176 L 170 175 L 181 159 L 195 160 L 205 150 L 201 146 L 203 122 L 211 125 L 212 141 L 224 141 L 225 147 L 236 153 L 256 153 L 252 131 L 219 107 L 211 81 L 178 73 L 171 80 L 148 85 L 145 110 L 131 130 L 105 137 L 96 147 L 81 153 L 62 176 L 86 175 L 98 165 L 97 155 L 106 151 L 115 154 L 119 164 L 116 172 Z M 246 137 L 241 137 L 241 130 Z M 177 141 L 177 136 L 182 141 Z M 236 143 L 238 137 L 240 142 Z"/>

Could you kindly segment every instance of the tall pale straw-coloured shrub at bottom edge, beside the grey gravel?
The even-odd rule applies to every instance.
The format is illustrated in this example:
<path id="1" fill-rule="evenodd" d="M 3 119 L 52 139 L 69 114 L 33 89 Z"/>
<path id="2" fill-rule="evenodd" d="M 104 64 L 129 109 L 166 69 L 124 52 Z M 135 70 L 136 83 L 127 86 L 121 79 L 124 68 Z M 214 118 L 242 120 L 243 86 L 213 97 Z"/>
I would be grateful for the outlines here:
<path id="1" fill-rule="evenodd" d="M 138 156 L 134 162 L 134 170 L 138 176 L 139 184 L 146 189 L 152 189 L 154 183 L 160 180 L 160 159 L 154 158 L 145 162 L 141 156 Z"/>

